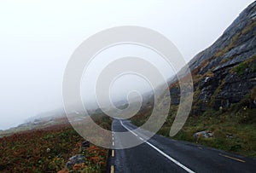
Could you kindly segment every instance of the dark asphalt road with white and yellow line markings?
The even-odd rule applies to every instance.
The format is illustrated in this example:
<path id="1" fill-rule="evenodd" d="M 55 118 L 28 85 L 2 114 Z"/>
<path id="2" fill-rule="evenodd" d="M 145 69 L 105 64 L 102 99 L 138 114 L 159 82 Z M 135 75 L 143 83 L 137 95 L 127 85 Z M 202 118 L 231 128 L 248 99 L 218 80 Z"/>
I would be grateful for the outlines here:
<path id="1" fill-rule="evenodd" d="M 114 133 L 137 127 L 115 119 L 112 129 L 113 145 L 125 145 Z M 130 140 L 143 141 L 143 135 L 131 133 Z M 256 172 L 255 159 L 158 135 L 137 147 L 111 150 L 109 158 L 109 172 Z"/>

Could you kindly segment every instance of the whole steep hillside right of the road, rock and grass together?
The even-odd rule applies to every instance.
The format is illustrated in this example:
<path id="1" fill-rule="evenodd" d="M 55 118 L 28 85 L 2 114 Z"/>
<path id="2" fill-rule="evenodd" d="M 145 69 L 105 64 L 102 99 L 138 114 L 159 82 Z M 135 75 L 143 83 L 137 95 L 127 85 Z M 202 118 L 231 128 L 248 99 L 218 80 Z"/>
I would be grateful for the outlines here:
<path id="1" fill-rule="evenodd" d="M 224 34 L 189 62 L 194 99 L 183 130 L 174 138 L 256 157 L 256 2 Z M 170 84 L 172 106 L 159 134 L 169 136 L 179 104 L 179 84 Z M 141 125 L 150 111 L 133 118 Z M 199 131 L 213 137 L 195 138 Z"/>

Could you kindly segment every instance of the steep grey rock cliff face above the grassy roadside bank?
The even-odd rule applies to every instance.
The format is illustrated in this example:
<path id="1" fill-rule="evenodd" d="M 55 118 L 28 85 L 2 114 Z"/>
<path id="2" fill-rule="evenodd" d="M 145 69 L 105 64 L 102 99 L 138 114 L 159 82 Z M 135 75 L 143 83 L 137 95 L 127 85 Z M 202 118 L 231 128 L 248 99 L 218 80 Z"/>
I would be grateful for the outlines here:
<path id="1" fill-rule="evenodd" d="M 211 47 L 189 62 L 194 80 L 192 114 L 216 110 L 245 101 L 256 107 L 256 2 L 245 9 Z M 177 105 L 177 83 L 171 84 L 172 104 Z"/>

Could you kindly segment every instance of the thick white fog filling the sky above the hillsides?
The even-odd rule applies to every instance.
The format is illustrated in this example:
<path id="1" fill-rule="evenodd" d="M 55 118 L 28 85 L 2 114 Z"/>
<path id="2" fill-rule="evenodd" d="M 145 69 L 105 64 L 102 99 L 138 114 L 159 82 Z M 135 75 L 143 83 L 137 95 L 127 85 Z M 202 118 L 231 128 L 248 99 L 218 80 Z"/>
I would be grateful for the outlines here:
<path id="1" fill-rule="evenodd" d="M 169 38 L 189 61 L 210 46 L 253 0 L 179 1 L 1 1 L 0 130 L 41 112 L 63 107 L 67 61 L 87 37 L 113 26 L 143 26 Z M 121 46 L 96 57 L 82 80 L 84 103 L 94 107 L 93 84 L 102 67 L 119 56 L 143 56 L 165 78 L 174 71 L 157 55 Z M 107 57 L 103 58 L 102 57 Z M 149 90 L 137 76 L 124 76 L 110 90 L 114 101 L 131 88 Z M 86 94 L 86 91 L 87 92 Z"/>

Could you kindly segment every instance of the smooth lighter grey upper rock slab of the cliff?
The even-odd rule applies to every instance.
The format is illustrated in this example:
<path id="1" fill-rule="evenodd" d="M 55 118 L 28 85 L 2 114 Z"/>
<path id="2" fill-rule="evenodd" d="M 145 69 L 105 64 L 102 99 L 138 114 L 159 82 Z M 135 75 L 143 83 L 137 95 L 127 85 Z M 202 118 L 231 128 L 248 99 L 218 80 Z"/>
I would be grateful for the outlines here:
<path id="1" fill-rule="evenodd" d="M 256 19 L 256 2 L 252 3 L 241 12 L 239 17 L 226 29 L 224 34 L 212 44 L 211 47 L 205 49 L 198 55 L 195 55 L 189 62 L 191 71 L 200 67 L 203 61 L 210 61 L 211 66 L 217 66 L 218 62 L 223 59 L 228 59 L 232 56 L 241 55 L 242 53 L 250 52 L 247 57 L 254 54 L 255 49 L 255 19 Z M 236 43 L 235 43 L 236 42 Z M 241 56 L 240 56 L 241 57 Z M 244 59 L 243 59 L 244 60 Z M 241 59 L 241 61 L 243 61 Z M 228 65 L 229 63 L 227 63 Z M 223 66 L 224 67 L 224 66 Z M 207 68 L 205 70 L 207 70 Z M 206 71 L 203 71 L 206 72 Z"/>

